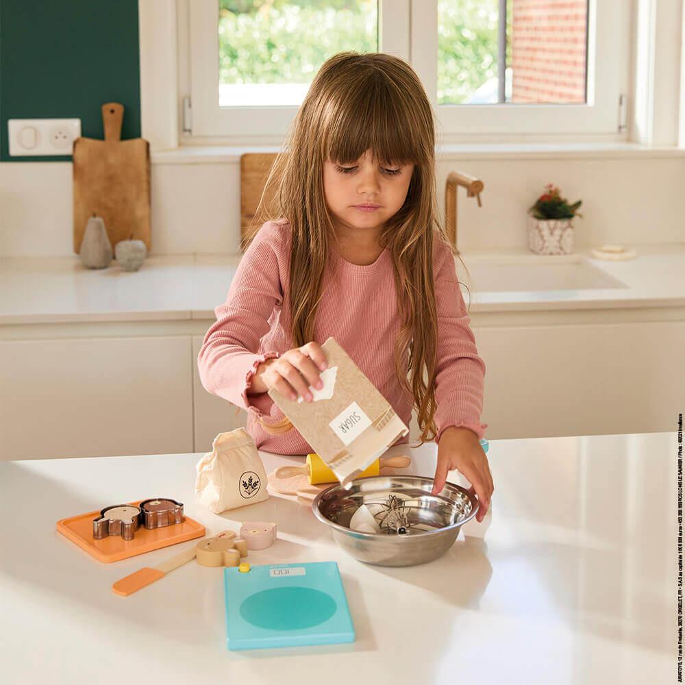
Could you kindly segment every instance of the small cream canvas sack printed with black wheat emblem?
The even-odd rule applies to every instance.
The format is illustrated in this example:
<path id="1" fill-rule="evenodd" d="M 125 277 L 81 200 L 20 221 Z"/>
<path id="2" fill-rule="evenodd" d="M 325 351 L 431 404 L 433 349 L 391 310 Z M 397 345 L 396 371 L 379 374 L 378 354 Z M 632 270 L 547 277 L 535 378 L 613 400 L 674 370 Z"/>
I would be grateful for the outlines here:
<path id="1" fill-rule="evenodd" d="M 215 514 L 269 497 L 264 464 L 245 428 L 219 433 L 195 468 L 195 497 Z"/>

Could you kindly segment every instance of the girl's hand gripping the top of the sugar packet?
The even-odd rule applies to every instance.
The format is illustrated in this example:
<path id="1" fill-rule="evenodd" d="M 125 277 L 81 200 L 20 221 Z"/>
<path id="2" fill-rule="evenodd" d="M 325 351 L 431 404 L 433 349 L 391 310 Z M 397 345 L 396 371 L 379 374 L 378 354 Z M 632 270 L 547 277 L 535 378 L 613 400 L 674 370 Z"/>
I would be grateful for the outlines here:
<path id="1" fill-rule="evenodd" d="M 311 402 L 314 397 L 309 386 L 321 390 L 323 382 L 319 371 L 327 366 L 326 355 L 321 345 L 314 340 L 301 347 L 293 347 L 276 359 L 268 359 L 257 367 L 251 384 L 256 392 L 266 393 L 269 388 L 296 400 L 301 395 Z M 260 389 L 263 387 L 264 389 Z"/>

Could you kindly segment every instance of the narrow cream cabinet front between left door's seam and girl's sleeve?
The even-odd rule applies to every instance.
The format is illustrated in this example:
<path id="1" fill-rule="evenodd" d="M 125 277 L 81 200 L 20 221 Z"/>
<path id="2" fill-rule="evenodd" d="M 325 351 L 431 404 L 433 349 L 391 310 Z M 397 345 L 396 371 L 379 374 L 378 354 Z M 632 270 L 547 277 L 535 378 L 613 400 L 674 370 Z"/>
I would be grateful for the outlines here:
<path id="1" fill-rule="evenodd" d="M 209 327 L 209 325 L 208 325 Z M 197 355 L 202 347 L 203 336 L 192 338 L 192 383 L 193 383 L 193 416 L 195 422 L 195 451 L 208 452 L 212 449 L 212 440 L 219 433 L 244 426 L 247 412 L 234 404 L 208 393 L 200 382 L 197 371 Z"/>

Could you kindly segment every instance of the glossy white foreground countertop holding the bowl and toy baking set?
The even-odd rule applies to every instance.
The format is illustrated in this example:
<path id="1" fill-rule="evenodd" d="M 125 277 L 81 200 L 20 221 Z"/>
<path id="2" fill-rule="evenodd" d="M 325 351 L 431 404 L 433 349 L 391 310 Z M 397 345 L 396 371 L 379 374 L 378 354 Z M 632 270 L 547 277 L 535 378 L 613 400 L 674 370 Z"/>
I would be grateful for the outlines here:
<path id="1" fill-rule="evenodd" d="M 494 440 L 492 514 L 440 559 L 362 564 L 290 497 L 217 516 L 196 505 L 200 454 L 0 462 L 0 673 L 8 685 L 675 682 L 677 434 Z M 406 446 L 390 453 L 406 451 Z M 408 471 L 432 475 L 436 446 Z M 301 461 L 262 453 L 266 472 Z M 456 472 L 453 482 L 461 482 Z M 129 597 L 112 582 L 194 545 L 103 564 L 66 516 L 174 497 L 208 534 L 277 521 L 251 564 L 338 562 L 349 645 L 230 652 L 223 574 L 189 562 Z"/>

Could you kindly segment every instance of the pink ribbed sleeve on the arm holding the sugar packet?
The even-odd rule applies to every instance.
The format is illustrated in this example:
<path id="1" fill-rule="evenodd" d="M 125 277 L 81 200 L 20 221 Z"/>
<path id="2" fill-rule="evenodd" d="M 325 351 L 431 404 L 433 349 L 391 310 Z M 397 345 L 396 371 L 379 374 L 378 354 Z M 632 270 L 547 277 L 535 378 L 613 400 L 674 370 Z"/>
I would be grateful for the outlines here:
<path id="1" fill-rule="evenodd" d="M 261 362 L 280 356 L 277 351 L 260 352 L 260 340 L 269 332 L 274 308 L 283 302 L 277 254 L 282 242 L 274 222 L 260 227 L 240 258 L 226 301 L 214 309 L 216 322 L 197 357 L 204 388 L 256 416 L 264 414 L 250 401 L 247 388 Z"/>

